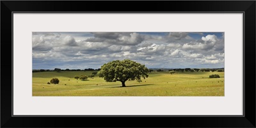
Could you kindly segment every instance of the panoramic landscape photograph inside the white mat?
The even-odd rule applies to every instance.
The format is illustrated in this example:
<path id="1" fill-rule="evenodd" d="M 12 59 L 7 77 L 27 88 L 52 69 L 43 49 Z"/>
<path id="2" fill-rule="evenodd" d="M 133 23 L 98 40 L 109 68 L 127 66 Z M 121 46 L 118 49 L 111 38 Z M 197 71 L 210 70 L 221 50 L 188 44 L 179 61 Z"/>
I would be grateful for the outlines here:
<path id="1" fill-rule="evenodd" d="M 224 32 L 33 32 L 32 96 L 224 96 Z"/>

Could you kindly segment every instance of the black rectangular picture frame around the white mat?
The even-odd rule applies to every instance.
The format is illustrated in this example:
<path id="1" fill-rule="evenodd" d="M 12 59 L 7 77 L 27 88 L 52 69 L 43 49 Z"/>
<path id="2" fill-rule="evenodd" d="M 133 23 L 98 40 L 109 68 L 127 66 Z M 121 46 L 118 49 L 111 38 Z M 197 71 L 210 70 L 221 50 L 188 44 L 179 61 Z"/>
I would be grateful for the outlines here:
<path id="1" fill-rule="evenodd" d="M 255 5 L 255 1 L 1 1 L 1 127 L 255 127 Z M 12 12 L 243 12 L 244 116 L 12 116 Z"/>

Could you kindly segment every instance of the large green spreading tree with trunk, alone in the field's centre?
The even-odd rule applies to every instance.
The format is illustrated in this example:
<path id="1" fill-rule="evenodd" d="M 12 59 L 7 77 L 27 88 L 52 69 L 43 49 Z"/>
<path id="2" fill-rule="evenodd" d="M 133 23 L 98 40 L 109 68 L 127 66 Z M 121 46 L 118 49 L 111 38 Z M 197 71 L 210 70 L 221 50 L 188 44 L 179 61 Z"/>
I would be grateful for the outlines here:
<path id="1" fill-rule="evenodd" d="M 98 72 L 99 77 L 104 77 L 107 82 L 120 81 L 122 87 L 125 81 L 141 80 L 148 77 L 148 68 L 132 60 L 115 60 L 105 63 Z"/>

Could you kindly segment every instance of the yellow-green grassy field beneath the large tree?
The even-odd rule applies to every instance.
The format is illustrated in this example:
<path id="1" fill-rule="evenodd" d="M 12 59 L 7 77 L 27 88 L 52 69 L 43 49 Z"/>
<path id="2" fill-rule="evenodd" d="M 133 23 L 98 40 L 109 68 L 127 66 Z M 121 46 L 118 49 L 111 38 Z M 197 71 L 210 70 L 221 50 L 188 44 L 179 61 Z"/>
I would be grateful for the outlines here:
<path id="1" fill-rule="evenodd" d="M 224 96 L 224 72 L 151 72 L 142 82 L 107 83 L 95 76 L 87 81 L 74 76 L 92 71 L 33 72 L 33 96 Z M 209 78 L 219 74 L 220 78 Z M 47 84 L 53 77 L 59 84 Z"/>

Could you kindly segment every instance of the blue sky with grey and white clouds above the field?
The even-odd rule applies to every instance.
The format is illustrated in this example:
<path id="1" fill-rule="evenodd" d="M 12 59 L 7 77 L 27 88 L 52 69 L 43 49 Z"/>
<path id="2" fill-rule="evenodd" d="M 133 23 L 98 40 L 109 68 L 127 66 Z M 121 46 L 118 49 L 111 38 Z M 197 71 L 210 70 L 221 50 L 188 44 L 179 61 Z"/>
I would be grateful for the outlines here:
<path id="1" fill-rule="evenodd" d="M 224 33 L 33 32 L 33 69 L 100 68 L 130 59 L 148 68 L 224 67 Z"/>

